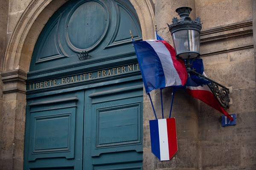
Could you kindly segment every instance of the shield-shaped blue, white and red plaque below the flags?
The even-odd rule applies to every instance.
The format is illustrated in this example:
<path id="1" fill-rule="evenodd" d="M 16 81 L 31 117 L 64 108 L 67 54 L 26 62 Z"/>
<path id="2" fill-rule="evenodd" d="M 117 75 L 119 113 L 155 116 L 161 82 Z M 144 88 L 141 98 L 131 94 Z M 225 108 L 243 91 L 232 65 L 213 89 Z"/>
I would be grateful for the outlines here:
<path id="1" fill-rule="evenodd" d="M 151 151 L 160 161 L 169 161 L 177 152 L 175 118 L 149 121 Z"/>

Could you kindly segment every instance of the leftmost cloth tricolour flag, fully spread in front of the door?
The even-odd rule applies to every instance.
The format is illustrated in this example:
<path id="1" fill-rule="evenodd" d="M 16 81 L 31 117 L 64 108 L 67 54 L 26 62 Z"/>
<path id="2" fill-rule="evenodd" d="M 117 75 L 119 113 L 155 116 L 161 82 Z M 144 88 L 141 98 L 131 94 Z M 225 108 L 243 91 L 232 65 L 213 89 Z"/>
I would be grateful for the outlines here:
<path id="1" fill-rule="evenodd" d="M 175 49 L 169 43 L 164 40 L 136 41 L 134 49 L 147 94 L 153 89 L 185 85 L 185 64 L 176 59 Z"/>

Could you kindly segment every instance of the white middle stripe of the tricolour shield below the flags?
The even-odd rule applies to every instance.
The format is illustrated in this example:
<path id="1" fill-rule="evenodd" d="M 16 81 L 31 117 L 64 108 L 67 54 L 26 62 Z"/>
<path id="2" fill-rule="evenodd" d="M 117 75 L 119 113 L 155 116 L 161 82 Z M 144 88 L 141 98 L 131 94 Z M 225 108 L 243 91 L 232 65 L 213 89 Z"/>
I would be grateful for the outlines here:
<path id="1" fill-rule="evenodd" d="M 161 161 L 166 161 L 166 160 L 169 161 L 170 159 L 169 159 L 169 146 L 168 146 L 166 119 L 158 119 L 158 130 L 159 130 Z"/>

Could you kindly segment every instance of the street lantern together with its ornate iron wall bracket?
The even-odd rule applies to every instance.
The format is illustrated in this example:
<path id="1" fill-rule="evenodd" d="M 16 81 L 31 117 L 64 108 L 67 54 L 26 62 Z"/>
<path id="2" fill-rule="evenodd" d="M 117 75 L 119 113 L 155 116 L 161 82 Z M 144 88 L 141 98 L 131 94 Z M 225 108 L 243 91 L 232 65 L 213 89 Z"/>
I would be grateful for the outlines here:
<path id="1" fill-rule="evenodd" d="M 200 33 L 202 29 L 202 23 L 199 17 L 195 20 L 191 20 L 189 17 L 192 11 L 189 7 L 180 7 L 176 9 L 176 12 L 180 16 L 180 20 L 177 17 L 172 19 L 172 24 L 169 25 L 169 31 L 172 34 L 172 40 L 175 47 L 177 60 L 183 60 L 186 66 L 186 70 L 189 75 L 197 75 L 198 78 L 203 78 L 211 83 L 207 84 L 211 89 L 213 95 L 218 100 L 221 107 L 229 107 L 229 89 L 205 75 L 202 75 L 193 68 L 192 63 L 195 59 L 200 58 Z"/>

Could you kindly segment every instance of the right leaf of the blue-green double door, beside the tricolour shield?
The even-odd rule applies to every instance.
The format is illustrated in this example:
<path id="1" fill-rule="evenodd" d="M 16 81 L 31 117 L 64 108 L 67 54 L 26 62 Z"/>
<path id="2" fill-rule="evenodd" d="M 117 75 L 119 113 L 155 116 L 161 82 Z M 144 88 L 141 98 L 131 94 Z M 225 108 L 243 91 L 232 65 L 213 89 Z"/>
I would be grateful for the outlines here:
<path id="1" fill-rule="evenodd" d="M 134 166 L 141 168 L 142 82 L 115 84 L 115 86 L 97 88 L 88 93 L 90 93 L 87 97 L 90 107 L 87 107 L 84 121 L 85 128 L 90 130 L 84 134 L 84 158 L 88 157 L 88 154 L 90 157 L 85 158 L 84 168 L 126 169 Z M 136 165 L 132 163 L 134 161 L 137 162 Z M 104 164 L 108 166 L 105 167 Z"/>

